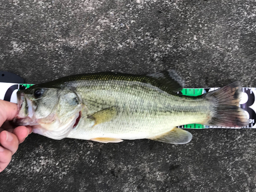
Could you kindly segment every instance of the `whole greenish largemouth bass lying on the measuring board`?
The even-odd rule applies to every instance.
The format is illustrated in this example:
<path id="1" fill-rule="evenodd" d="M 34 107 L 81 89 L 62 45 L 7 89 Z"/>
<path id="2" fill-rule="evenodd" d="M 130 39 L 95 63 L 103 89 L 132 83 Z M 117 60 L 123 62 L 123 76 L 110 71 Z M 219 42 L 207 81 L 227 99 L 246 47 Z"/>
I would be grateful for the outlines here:
<path id="1" fill-rule="evenodd" d="M 248 115 L 239 107 L 239 81 L 194 97 L 178 94 L 183 88 L 184 81 L 174 70 L 71 75 L 18 91 L 13 122 L 57 140 L 151 139 L 172 144 L 192 138 L 179 125 L 248 125 Z"/>

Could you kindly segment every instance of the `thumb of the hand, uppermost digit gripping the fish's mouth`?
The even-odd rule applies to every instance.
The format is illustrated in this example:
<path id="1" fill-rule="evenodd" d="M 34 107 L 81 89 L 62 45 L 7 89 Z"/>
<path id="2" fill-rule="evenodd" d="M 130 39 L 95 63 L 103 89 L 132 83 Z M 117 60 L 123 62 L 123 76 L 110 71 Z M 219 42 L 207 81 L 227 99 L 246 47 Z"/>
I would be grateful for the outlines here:
<path id="1" fill-rule="evenodd" d="M 12 120 L 17 115 L 17 104 L 0 100 L 0 125 L 6 120 Z"/>

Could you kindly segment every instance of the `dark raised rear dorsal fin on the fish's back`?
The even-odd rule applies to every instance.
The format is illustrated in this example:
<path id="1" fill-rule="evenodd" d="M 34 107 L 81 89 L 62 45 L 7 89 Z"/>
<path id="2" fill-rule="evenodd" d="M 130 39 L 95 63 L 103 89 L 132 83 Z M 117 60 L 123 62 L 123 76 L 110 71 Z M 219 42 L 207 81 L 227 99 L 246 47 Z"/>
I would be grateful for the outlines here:
<path id="1" fill-rule="evenodd" d="M 176 93 L 184 88 L 184 81 L 174 70 L 152 73 L 147 76 L 157 79 L 160 83 L 158 87 L 163 91 L 169 90 Z"/>

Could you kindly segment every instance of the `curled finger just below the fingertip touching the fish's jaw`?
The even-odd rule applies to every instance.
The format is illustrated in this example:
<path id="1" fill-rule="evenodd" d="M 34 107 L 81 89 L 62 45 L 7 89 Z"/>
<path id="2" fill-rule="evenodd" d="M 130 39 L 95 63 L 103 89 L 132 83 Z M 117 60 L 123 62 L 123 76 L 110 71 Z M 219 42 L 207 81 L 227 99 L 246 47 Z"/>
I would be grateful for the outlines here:
<path id="1" fill-rule="evenodd" d="M 0 133 L 0 144 L 7 150 L 11 151 L 13 155 L 18 149 L 19 140 L 16 135 L 7 131 L 2 131 Z"/>

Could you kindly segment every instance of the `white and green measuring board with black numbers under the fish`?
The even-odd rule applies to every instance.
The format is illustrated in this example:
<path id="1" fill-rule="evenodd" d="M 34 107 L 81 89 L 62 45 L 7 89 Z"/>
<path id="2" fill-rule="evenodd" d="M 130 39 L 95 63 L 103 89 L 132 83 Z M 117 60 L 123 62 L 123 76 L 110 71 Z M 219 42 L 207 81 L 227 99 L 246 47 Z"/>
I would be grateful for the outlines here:
<path id="1" fill-rule="evenodd" d="M 33 84 L 19 84 L 19 83 L 5 83 L 0 82 L 0 99 L 11 101 L 17 103 L 17 91 L 24 90 L 33 86 Z M 204 93 L 217 90 L 219 88 L 202 88 L 202 89 L 183 89 L 178 94 L 187 95 L 187 96 L 198 96 Z M 240 107 L 247 112 L 249 117 L 249 125 L 242 128 L 256 128 L 256 88 L 242 88 L 242 99 L 240 102 Z M 241 129 L 235 127 L 224 127 L 224 126 L 208 126 L 201 124 L 186 124 L 178 126 L 182 129 L 207 129 L 207 128 L 231 128 L 231 129 Z"/>

